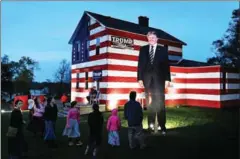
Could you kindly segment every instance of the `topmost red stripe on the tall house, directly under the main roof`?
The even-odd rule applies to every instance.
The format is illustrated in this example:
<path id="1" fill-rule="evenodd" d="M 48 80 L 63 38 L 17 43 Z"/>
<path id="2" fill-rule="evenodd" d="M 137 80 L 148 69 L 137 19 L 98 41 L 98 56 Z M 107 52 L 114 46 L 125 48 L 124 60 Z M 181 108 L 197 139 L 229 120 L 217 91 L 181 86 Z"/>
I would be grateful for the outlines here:
<path id="1" fill-rule="evenodd" d="M 110 35 L 127 37 L 127 38 L 136 39 L 136 40 L 142 40 L 142 41 L 148 41 L 146 35 L 139 35 L 139 34 L 134 34 L 134 33 L 125 32 L 122 30 L 110 29 L 110 28 L 107 28 L 106 30 L 107 30 L 107 33 Z M 169 40 L 159 39 L 158 43 L 163 44 L 163 45 L 170 45 L 170 46 L 182 48 L 182 44 L 180 44 L 178 42 L 169 41 Z"/>

